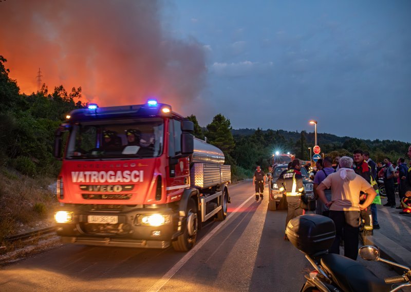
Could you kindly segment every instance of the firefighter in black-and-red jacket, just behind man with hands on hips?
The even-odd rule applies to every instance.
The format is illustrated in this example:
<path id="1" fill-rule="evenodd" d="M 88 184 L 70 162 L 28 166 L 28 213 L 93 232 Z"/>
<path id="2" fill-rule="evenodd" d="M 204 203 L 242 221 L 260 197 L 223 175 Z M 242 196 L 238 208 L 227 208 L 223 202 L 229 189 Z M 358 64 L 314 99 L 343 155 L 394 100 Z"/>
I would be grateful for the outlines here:
<path id="1" fill-rule="evenodd" d="M 379 195 L 379 190 L 377 186 L 376 180 L 372 177 L 372 172 L 371 168 L 368 165 L 368 163 L 364 160 L 364 155 L 363 151 L 360 149 L 354 150 L 353 152 L 353 157 L 354 157 L 354 164 L 353 164 L 353 169 L 354 171 L 362 176 L 368 184 L 372 186 L 372 188 L 376 191 L 377 195 L 372 201 L 373 204 L 380 204 L 381 205 L 381 198 Z M 363 204 L 365 202 L 365 199 L 367 197 L 366 193 L 360 192 L 360 204 Z M 371 213 L 371 207 L 366 208 L 364 210 L 361 210 L 360 213 L 361 219 L 364 223 L 364 229 L 363 233 L 361 234 L 362 239 L 365 239 L 365 236 L 367 235 L 373 235 L 373 218 L 372 218 L 372 213 Z"/>

